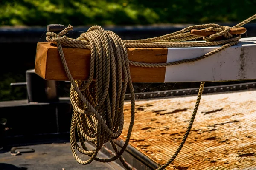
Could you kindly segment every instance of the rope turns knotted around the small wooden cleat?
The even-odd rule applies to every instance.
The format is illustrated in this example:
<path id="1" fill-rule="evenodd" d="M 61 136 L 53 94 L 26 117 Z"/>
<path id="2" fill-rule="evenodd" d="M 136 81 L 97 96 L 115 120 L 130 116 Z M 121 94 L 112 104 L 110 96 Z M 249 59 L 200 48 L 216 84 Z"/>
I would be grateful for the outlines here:
<path id="1" fill-rule="evenodd" d="M 209 27 L 205 31 L 214 31 L 215 33 L 210 36 L 203 37 L 203 39 L 206 42 L 211 42 L 218 39 L 227 40 L 227 39 L 233 38 L 233 35 L 229 33 L 230 28 L 231 28 L 230 26 Z"/>

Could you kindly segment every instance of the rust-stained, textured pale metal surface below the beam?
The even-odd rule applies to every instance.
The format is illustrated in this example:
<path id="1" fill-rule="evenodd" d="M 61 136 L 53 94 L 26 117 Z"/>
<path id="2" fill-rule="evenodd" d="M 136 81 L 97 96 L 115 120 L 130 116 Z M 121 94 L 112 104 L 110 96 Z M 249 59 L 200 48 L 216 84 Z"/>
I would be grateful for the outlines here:
<path id="1" fill-rule="evenodd" d="M 137 100 L 131 146 L 157 164 L 175 153 L 196 96 Z M 126 138 L 130 103 L 125 102 Z M 256 91 L 203 94 L 192 131 L 167 170 L 255 170 Z"/>

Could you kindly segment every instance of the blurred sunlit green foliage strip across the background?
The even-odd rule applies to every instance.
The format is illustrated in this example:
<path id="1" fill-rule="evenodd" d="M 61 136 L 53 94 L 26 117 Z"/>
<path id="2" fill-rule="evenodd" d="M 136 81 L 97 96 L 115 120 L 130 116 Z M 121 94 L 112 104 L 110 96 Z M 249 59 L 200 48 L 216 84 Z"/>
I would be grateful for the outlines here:
<path id="1" fill-rule="evenodd" d="M 241 22 L 256 0 L 0 0 L 0 26 Z"/>

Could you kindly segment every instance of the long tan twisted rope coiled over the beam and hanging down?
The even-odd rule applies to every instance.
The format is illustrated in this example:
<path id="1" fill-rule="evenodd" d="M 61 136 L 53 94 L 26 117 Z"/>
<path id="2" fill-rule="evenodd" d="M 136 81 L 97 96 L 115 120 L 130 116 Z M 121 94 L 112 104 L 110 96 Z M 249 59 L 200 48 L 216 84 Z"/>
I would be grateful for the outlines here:
<path id="1" fill-rule="evenodd" d="M 232 28 L 239 28 L 255 18 L 256 14 Z M 218 24 L 195 25 L 189 26 L 172 34 L 142 40 L 122 40 L 113 31 L 105 31 L 100 26 L 92 26 L 87 32 L 82 33 L 80 37 L 76 39 L 65 36 L 68 31 L 73 29 L 73 26 L 71 25 L 58 34 L 54 32 L 47 32 L 46 40 L 58 46 L 61 61 L 67 73 L 67 77 L 71 82 L 70 101 L 73 106 L 73 115 L 70 128 L 70 143 L 71 150 L 76 161 L 80 164 L 90 164 L 93 160 L 110 162 L 119 159 L 125 168 L 128 170 L 132 169 L 132 167 L 126 164 L 122 158 L 122 153 L 124 153 L 128 146 L 128 142 L 131 137 L 135 117 L 135 97 L 129 65 L 140 67 L 166 67 L 181 63 L 195 62 L 207 58 L 227 47 L 238 44 L 239 39 L 241 39 L 241 35 L 234 37 L 228 32 L 230 28 L 231 27 L 229 26 L 220 26 Z M 203 37 L 206 42 L 182 42 L 201 37 L 192 35 L 189 32 L 192 29 L 212 30 L 216 31 L 216 33 L 209 37 Z M 220 36 L 224 36 L 225 40 L 214 41 L 215 38 Z M 203 56 L 195 57 L 193 59 L 183 59 L 175 62 L 159 64 L 129 61 L 126 50 L 126 48 L 182 48 L 212 45 L 222 46 L 204 54 Z M 90 49 L 90 76 L 87 81 L 73 79 L 65 61 L 62 46 Z M 95 81 L 93 80 L 94 77 Z M 117 139 L 122 133 L 124 123 L 123 107 L 125 91 L 127 88 L 129 88 L 131 93 L 131 122 L 125 143 L 121 150 L 118 150 L 113 140 Z M 170 158 L 166 164 L 157 168 L 157 170 L 163 170 L 171 164 L 186 142 L 186 138 L 189 135 L 198 110 L 203 88 L 204 82 L 201 82 L 195 108 L 182 142 L 172 158 Z M 79 142 L 81 142 L 81 147 L 76 141 L 76 130 Z M 95 144 L 95 149 L 88 150 L 84 143 L 85 140 Z M 108 141 L 113 146 L 116 156 L 109 159 L 96 157 L 102 145 Z M 81 160 L 77 156 L 76 150 L 88 155 L 90 158 L 86 161 Z"/>

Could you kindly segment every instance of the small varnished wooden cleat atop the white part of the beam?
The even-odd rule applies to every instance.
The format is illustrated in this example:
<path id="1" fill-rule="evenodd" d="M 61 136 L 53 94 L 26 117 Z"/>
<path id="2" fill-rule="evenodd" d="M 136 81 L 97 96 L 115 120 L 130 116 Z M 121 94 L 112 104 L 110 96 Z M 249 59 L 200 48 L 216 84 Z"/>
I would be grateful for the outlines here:
<path id="1" fill-rule="evenodd" d="M 198 29 L 192 29 L 190 31 L 191 34 L 197 35 L 197 36 L 203 36 L 203 37 L 208 37 L 212 34 L 215 34 L 215 31 L 207 31 L 207 30 L 198 30 Z M 246 28 L 244 27 L 239 27 L 239 28 L 231 28 L 229 31 L 230 34 L 235 35 L 235 34 L 244 34 L 246 33 Z"/>

